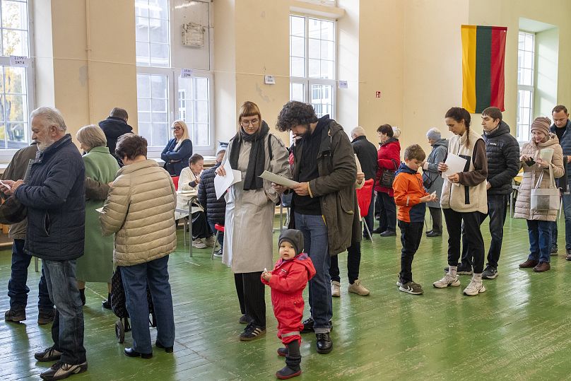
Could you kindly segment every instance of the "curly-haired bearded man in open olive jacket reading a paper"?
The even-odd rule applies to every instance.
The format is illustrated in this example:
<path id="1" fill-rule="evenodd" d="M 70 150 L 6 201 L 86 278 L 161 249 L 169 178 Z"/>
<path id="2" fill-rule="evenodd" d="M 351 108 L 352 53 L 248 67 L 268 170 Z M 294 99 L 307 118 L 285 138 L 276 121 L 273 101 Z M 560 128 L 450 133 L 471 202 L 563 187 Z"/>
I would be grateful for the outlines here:
<path id="1" fill-rule="evenodd" d="M 292 131 L 296 141 L 293 180 L 300 184 L 293 188 L 291 221 L 302 231 L 317 270 L 309 286 L 311 317 L 302 333 L 315 332 L 317 352 L 329 353 L 333 348 L 329 256 L 344 252 L 353 234 L 360 239 L 353 147 L 343 127 L 329 115 L 318 119 L 312 105 L 286 103 L 277 124 L 280 131 Z"/>

